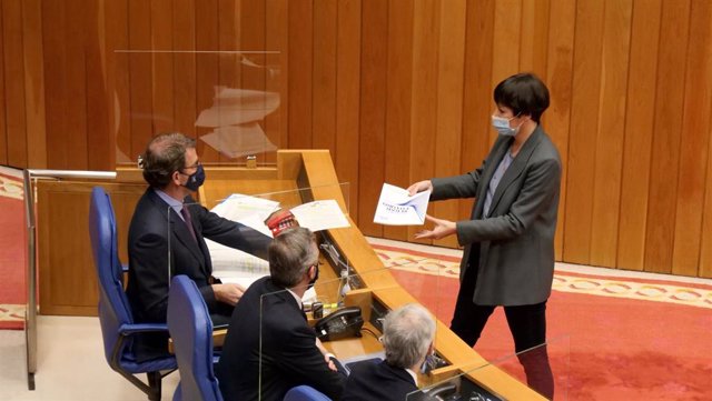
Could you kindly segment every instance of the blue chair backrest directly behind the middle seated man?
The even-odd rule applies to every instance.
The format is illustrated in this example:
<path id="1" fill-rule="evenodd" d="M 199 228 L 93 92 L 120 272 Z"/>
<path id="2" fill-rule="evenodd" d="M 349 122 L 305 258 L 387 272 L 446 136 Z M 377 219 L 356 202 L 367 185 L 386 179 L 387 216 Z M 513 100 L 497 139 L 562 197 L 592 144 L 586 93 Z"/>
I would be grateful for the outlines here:
<path id="1" fill-rule="evenodd" d="M 221 401 L 212 371 L 212 321 L 196 283 L 187 275 L 172 278 L 168 293 L 168 331 L 180 372 L 174 400 Z"/>

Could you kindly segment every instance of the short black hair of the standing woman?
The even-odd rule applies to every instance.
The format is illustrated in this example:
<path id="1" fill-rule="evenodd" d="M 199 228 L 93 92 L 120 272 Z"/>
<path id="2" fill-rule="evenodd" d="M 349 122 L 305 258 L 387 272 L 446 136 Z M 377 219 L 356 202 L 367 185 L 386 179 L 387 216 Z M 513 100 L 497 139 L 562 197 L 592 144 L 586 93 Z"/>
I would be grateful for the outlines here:
<path id="1" fill-rule="evenodd" d="M 535 74 L 517 73 L 497 84 L 494 102 L 512 109 L 514 116 L 531 116 L 532 120 L 540 122 L 548 108 L 548 89 Z"/>

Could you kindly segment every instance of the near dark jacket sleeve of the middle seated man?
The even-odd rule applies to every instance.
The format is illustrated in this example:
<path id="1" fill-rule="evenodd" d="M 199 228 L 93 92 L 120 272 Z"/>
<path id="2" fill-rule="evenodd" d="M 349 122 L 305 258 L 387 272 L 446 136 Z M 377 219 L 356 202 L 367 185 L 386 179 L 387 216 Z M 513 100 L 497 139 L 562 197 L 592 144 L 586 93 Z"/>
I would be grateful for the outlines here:
<path id="1" fill-rule="evenodd" d="M 332 400 L 338 400 L 346 378 L 328 368 L 315 341 L 314 331 L 309 327 L 295 328 L 285 342 L 279 363 L 285 372 L 298 378 L 297 382 L 317 389 Z"/>

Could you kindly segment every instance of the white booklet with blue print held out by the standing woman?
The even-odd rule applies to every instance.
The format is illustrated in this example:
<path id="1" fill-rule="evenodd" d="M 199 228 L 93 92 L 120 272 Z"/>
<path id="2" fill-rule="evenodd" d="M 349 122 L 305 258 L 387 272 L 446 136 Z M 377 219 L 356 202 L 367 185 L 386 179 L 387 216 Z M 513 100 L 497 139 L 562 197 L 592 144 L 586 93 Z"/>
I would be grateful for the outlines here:
<path id="1" fill-rule="evenodd" d="M 387 225 L 423 224 L 429 199 L 431 191 L 411 197 L 407 190 L 384 183 L 374 222 Z"/>

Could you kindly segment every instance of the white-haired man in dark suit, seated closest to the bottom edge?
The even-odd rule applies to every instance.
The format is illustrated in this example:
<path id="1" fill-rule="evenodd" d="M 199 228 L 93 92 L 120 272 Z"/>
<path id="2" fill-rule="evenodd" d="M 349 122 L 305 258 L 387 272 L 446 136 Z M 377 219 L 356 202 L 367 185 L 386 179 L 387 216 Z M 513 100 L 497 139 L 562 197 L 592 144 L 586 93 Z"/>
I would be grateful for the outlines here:
<path id="1" fill-rule="evenodd" d="M 388 313 L 380 339 L 386 360 L 355 364 L 342 400 L 407 400 L 418 389 L 416 372 L 433 352 L 434 338 L 435 321 L 419 304 L 409 303 Z"/>

